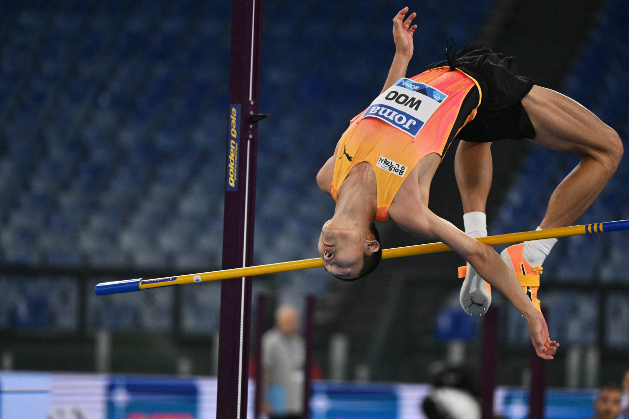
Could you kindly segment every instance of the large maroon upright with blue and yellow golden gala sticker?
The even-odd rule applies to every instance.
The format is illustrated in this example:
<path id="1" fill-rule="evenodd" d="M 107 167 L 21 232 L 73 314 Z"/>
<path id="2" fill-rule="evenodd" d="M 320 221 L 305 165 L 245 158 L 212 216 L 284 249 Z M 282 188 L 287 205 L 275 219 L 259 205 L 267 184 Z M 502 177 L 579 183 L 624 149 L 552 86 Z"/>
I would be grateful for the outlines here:
<path id="1" fill-rule="evenodd" d="M 232 0 L 223 269 L 253 264 L 262 0 Z M 247 418 L 251 278 L 223 281 L 218 419 Z"/>

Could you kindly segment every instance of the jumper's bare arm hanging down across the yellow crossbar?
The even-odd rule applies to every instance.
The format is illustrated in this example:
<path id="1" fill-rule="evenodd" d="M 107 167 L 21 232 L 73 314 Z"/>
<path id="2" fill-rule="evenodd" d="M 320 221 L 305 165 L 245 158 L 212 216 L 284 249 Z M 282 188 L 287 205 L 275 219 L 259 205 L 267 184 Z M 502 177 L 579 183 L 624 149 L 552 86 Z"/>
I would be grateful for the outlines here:
<path id="1" fill-rule="evenodd" d="M 472 239 L 450 222 L 440 219 L 421 200 L 412 201 L 407 200 L 408 204 L 398 205 L 394 211 L 389 209 L 389 216 L 405 231 L 443 241 L 463 256 L 484 280 L 498 288 L 526 318 L 537 355 L 543 359 L 553 359 L 559 344 L 548 337 L 546 320 L 523 293 L 513 269 L 509 269 L 491 246 Z"/>

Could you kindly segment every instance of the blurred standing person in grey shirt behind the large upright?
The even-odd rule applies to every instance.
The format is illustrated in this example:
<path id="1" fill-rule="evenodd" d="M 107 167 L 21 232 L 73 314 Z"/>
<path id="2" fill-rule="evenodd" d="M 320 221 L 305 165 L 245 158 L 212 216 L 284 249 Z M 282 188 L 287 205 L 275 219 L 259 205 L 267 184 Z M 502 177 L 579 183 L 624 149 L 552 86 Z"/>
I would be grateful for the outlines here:
<path id="1" fill-rule="evenodd" d="M 296 419 L 303 413 L 306 345 L 298 335 L 299 313 L 292 305 L 276 312 L 276 327 L 262 336 L 263 410 L 270 418 Z"/>

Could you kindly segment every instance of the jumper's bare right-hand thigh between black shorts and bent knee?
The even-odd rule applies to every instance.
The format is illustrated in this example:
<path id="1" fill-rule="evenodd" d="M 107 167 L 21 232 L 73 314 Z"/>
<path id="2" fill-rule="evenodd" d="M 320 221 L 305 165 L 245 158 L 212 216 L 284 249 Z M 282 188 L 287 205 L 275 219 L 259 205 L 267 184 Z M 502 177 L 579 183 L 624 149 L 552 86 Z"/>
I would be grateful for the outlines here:
<path id="1" fill-rule="evenodd" d="M 535 127 L 535 143 L 552 150 L 592 155 L 608 150 L 610 136 L 617 137 L 586 107 L 554 90 L 533 86 L 522 104 Z"/>

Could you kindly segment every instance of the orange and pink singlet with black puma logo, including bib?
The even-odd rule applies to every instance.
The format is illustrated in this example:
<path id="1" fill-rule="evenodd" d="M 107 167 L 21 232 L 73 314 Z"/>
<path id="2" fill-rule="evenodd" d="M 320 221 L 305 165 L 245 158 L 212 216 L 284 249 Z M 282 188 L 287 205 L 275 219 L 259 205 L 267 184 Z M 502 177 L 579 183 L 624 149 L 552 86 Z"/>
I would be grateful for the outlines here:
<path id="1" fill-rule="evenodd" d="M 337 200 L 338 188 L 353 166 L 367 161 L 376 172 L 376 220 L 386 221 L 389 205 L 409 171 L 424 156 L 445 153 L 461 105 L 474 85 L 480 95 L 472 77 L 439 67 L 400 79 L 382 92 L 352 119 L 338 143 L 332 197 Z M 476 108 L 480 104 L 479 98 Z M 474 116 L 476 109 L 465 123 Z"/>

